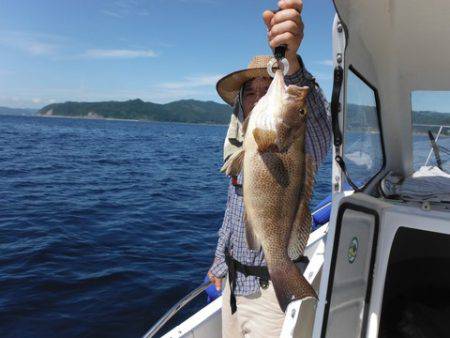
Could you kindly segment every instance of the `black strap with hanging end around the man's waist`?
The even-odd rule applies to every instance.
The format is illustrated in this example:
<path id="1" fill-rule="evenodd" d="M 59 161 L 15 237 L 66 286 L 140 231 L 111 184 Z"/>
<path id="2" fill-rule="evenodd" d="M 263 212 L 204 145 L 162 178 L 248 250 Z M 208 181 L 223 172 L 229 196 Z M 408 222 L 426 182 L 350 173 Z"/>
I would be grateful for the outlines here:
<path id="1" fill-rule="evenodd" d="M 305 263 L 308 265 L 309 258 L 306 256 L 300 256 L 294 263 Z M 236 289 L 237 272 L 244 274 L 245 277 L 255 276 L 259 278 L 259 283 L 261 286 L 268 285 L 270 280 L 269 270 L 267 266 L 251 266 L 245 265 L 237 261 L 229 254 L 228 250 L 225 250 L 225 263 L 228 266 L 228 281 L 230 284 L 230 307 L 231 314 L 234 314 L 237 310 L 236 306 L 236 296 L 234 290 Z"/>

